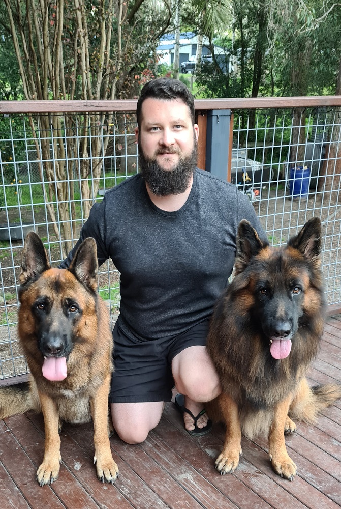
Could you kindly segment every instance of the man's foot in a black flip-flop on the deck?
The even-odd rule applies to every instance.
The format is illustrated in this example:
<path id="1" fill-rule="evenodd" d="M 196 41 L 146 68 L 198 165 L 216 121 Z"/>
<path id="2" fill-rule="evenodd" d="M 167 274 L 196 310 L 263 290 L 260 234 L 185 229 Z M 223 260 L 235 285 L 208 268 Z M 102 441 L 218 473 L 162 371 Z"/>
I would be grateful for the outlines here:
<path id="1" fill-rule="evenodd" d="M 176 394 L 175 406 L 183 414 L 185 430 L 191 435 L 201 436 L 211 431 L 212 422 L 202 403 L 184 397 L 183 394 Z"/>

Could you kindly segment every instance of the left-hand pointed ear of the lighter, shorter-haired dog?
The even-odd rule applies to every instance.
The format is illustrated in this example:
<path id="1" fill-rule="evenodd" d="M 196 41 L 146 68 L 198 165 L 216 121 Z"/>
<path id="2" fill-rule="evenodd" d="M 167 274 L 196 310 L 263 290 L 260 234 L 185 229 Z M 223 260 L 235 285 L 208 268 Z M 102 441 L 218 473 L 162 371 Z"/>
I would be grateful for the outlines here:
<path id="1" fill-rule="evenodd" d="M 51 265 L 48 261 L 44 244 L 36 232 L 29 232 L 25 238 L 21 257 L 20 285 L 24 285 L 50 268 Z"/>

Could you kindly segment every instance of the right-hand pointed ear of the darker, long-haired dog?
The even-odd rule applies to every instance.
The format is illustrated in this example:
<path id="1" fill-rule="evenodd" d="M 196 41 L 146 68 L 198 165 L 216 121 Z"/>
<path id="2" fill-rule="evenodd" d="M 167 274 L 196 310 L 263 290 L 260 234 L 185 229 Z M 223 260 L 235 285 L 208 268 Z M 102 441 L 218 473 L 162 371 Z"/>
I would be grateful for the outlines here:
<path id="1" fill-rule="evenodd" d="M 302 230 L 288 240 L 288 246 L 298 249 L 316 268 L 320 268 L 322 238 L 319 217 L 309 219 Z"/>

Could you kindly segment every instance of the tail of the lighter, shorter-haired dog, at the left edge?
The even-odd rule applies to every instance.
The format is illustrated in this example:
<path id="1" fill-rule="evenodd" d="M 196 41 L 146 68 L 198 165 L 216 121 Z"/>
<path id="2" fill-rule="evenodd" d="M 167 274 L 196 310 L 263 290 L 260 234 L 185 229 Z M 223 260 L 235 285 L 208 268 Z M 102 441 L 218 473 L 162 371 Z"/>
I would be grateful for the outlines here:
<path id="1" fill-rule="evenodd" d="M 0 419 L 20 415 L 28 410 L 37 410 L 28 383 L 0 389 Z"/>

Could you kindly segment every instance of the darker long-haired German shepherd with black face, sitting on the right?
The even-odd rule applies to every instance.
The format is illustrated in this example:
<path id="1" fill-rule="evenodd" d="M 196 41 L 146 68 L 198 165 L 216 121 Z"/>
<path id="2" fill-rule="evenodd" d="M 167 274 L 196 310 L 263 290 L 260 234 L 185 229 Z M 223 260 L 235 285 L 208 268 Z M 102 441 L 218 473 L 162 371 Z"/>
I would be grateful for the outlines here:
<path id="1" fill-rule="evenodd" d="M 207 410 L 226 423 L 215 461 L 221 474 L 237 468 L 241 434 L 251 439 L 262 432 L 273 470 L 292 480 L 296 465 L 284 433 L 296 426 L 288 414 L 312 422 L 341 397 L 340 384 L 309 387 L 306 380 L 324 327 L 320 251 L 318 218 L 277 249 L 246 220 L 239 224 L 234 277 L 216 302 L 207 338 L 222 387 Z"/>

